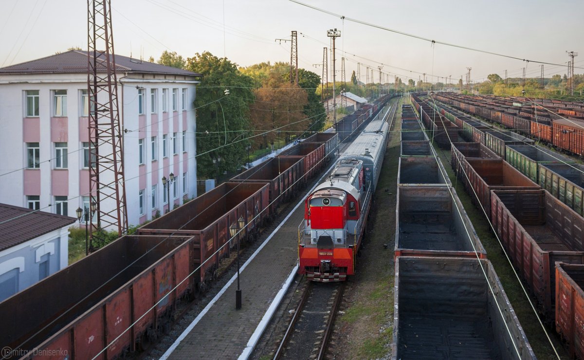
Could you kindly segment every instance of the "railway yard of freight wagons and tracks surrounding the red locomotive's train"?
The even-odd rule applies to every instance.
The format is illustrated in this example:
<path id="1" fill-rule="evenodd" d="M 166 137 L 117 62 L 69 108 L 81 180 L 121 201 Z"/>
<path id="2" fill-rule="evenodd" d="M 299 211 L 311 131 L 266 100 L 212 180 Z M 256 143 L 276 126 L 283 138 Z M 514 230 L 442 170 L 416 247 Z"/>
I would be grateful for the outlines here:
<path id="1" fill-rule="evenodd" d="M 125 254 L 86 287 L 60 271 L 3 302 L 19 324 L 3 343 L 77 358 L 578 357 L 580 154 L 456 99 L 382 98 L 138 228 L 72 266 Z M 303 204 L 371 121 L 387 142 L 355 273 L 310 281 Z M 23 321 L 17 302 L 44 320 Z"/>

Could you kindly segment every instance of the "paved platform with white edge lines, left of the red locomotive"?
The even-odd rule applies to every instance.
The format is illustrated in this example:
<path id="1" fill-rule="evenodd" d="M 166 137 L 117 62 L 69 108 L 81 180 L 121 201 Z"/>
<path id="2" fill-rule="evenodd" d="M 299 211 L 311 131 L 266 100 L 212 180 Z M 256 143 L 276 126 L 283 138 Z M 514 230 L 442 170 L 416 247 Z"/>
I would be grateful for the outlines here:
<path id="1" fill-rule="evenodd" d="M 303 217 L 304 207 L 295 207 L 243 264 L 239 274 L 242 308 L 235 309 L 237 280 L 232 279 L 235 281 L 225 285 L 162 359 L 236 359 L 242 354 L 296 267 L 298 224 Z"/>

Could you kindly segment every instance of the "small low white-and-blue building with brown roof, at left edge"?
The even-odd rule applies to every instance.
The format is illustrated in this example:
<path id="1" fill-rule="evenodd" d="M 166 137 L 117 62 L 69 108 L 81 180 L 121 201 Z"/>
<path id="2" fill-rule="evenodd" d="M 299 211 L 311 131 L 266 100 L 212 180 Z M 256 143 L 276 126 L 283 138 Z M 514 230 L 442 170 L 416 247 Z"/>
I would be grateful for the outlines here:
<path id="1" fill-rule="evenodd" d="M 75 221 L 0 204 L 0 302 L 67 266 Z"/>

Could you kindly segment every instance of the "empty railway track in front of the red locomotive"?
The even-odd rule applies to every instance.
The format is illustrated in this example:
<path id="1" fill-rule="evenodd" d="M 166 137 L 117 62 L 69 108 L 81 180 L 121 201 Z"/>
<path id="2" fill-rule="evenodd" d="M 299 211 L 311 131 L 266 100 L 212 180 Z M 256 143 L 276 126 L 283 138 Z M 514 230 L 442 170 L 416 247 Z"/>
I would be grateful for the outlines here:
<path id="1" fill-rule="evenodd" d="M 308 283 L 280 341 L 276 359 L 324 359 L 345 282 Z"/>

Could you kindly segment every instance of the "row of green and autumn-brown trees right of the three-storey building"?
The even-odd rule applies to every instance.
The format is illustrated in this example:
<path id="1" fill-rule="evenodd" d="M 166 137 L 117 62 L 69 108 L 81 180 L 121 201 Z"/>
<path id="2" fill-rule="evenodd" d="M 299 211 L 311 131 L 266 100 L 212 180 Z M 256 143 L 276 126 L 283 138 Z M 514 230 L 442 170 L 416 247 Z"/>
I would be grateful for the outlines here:
<path id="1" fill-rule="evenodd" d="M 164 51 L 150 62 L 200 73 L 194 101 L 197 118 L 197 177 L 237 172 L 258 153 L 324 128 L 326 111 L 316 93 L 321 78 L 290 66 L 262 62 L 247 68 L 208 51 L 184 58 Z"/>

